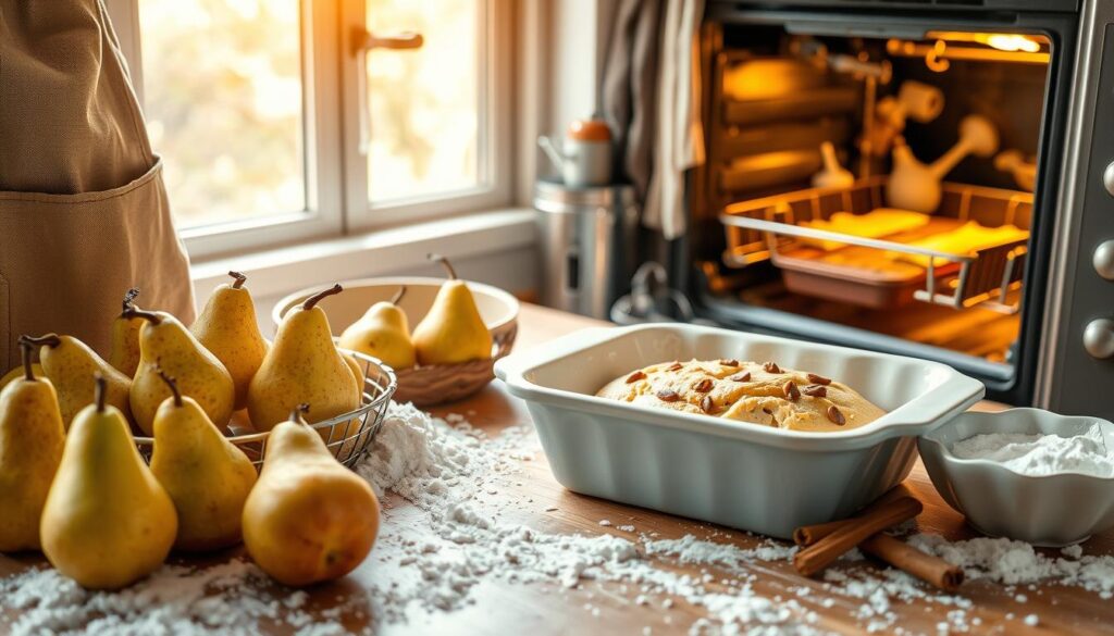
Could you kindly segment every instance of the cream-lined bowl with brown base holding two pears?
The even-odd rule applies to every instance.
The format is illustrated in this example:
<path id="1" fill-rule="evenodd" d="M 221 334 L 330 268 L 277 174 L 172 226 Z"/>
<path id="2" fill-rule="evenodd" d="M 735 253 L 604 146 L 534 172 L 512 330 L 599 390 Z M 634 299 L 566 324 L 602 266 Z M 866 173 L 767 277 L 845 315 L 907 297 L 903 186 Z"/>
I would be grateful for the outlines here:
<path id="1" fill-rule="evenodd" d="M 399 306 L 407 313 L 412 330 L 432 306 L 433 297 L 443 282 L 443 278 L 417 276 L 341 281 L 344 291 L 323 299 L 317 306 L 329 314 L 329 325 L 336 336 L 359 320 L 368 307 L 380 301 L 391 300 L 399 286 L 405 285 L 407 294 Z M 291 307 L 301 304 L 310 295 L 326 286 L 322 284 L 301 290 L 278 301 L 271 312 L 275 329 Z M 495 379 L 492 371 L 495 361 L 510 353 L 510 348 L 515 344 L 515 336 L 518 333 L 518 301 L 507 292 L 482 283 L 468 282 L 468 288 L 476 299 L 480 316 L 491 332 L 491 358 L 458 364 L 395 369 L 397 402 L 413 402 L 421 408 L 452 402 L 471 395 Z"/>

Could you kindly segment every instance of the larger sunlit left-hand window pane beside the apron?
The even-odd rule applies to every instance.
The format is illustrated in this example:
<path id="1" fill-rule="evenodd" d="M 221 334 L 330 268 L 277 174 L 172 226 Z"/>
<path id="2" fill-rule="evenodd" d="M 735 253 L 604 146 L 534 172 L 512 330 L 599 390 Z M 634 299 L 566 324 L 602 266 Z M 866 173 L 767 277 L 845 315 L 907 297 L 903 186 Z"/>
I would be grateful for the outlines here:
<path id="1" fill-rule="evenodd" d="M 299 0 L 140 0 L 139 18 L 178 226 L 304 209 Z"/>

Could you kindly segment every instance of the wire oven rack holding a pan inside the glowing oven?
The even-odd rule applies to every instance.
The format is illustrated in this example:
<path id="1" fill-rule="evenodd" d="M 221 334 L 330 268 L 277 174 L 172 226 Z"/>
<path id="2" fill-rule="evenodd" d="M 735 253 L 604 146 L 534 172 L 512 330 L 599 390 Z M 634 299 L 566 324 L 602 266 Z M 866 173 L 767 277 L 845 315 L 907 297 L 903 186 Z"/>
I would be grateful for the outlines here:
<path id="1" fill-rule="evenodd" d="M 810 284 L 827 282 L 836 293 L 847 294 L 852 302 L 856 297 L 869 299 L 863 302 L 868 306 L 881 306 L 878 303 L 882 301 L 878 299 L 898 304 L 896 299 L 910 297 L 954 309 L 979 305 L 1000 313 L 1016 313 L 1019 295 L 1013 292 L 1022 285 L 1027 254 L 1025 239 L 957 255 L 799 225 L 802 221 L 828 219 L 836 212 L 864 214 L 883 207 L 886 180 L 885 175 L 878 175 L 846 188 L 807 188 L 727 205 L 720 215 L 727 237 L 724 263 L 739 268 L 769 261 L 794 276 L 794 281 L 808 276 L 813 281 Z M 988 227 L 1013 224 L 1029 228 L 1030 193 L 955 183 L 944 183 L 942 192 L 940 207 L 934 217 L 959 223 L 977 221 Z M 801 238 L 926 256 L 928 265 L 915 267 L 917 274 L 912 276 L 887 278 L 854 266 L 790 256 L 801 247 Z M 887 256 L 879 254 L 879 257 Z"/>

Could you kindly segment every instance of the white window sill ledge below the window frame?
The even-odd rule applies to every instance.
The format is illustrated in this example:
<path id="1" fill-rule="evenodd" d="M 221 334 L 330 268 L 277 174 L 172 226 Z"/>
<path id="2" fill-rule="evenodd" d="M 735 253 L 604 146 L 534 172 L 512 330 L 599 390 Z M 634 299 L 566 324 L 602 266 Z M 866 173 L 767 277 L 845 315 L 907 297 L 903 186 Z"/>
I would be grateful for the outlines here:
<path id="1" fill-rule="evenodd" d="M 250 276 L 256 297 L 275 296 L 325 282 L 422 270 L 430 252 L 465 260 L 536 241 L 534 211 L 509 208 L 199 261 L 192 277 L 198 302 L 228 281 L 229 270 Z"/>

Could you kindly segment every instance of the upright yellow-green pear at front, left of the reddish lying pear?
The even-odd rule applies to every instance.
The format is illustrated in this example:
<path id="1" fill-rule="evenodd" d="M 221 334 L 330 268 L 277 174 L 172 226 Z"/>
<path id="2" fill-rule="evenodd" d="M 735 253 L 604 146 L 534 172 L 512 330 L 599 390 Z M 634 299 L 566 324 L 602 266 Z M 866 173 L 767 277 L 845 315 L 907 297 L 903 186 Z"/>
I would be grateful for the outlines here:
<path id="1" fill-rule="evenodd" d="M 166 560 L 178 530 L 174 502 L 136 449 L 119 409 L 97 400 L 74 418 L 42 510 L 47 559 L 90 589 L 118 589 Z"/>

